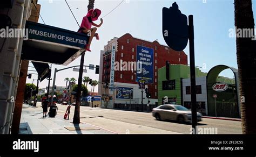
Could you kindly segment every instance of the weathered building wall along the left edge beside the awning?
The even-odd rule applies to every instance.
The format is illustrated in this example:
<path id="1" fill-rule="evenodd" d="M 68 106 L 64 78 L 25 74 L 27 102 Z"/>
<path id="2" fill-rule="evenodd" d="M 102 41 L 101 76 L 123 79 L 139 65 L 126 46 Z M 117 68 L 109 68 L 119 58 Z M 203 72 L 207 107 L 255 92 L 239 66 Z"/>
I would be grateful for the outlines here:
<path id="1" fill-rule="evenodd" d="M 12 28 L 24 28 L 31 14 L 31 0 L 15 0 L 12 9 L 1 9 L 11 18 Z M 0 39 L 0 134 L 9 134 L 21 67 L 23 38 Z"/>

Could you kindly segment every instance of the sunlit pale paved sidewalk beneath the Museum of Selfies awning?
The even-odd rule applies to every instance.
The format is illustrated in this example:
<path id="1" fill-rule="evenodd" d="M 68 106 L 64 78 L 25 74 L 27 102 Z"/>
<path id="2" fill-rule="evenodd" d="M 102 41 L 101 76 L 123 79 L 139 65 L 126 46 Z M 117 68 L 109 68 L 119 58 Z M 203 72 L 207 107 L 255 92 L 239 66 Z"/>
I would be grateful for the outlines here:
<path id="1" fill-rule="evenodd" d="M 23 104 L 19 134 L 114 134 L 90 124 L 72 124 L 70 120 L 63 119 L 63 116 L 56 115 L 55 118 L 43 118 L 41 104 L 37 107 Z"/>

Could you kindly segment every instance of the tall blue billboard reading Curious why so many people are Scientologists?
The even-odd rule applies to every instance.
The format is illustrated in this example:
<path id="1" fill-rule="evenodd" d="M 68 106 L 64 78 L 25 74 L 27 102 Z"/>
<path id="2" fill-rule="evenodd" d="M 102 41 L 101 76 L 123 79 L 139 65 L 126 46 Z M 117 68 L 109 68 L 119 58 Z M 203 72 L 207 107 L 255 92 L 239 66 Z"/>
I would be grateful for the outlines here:
<path id="1" fill-rule="evenodd" d="M 136 71 L 136 82 L 139 82 L 139 80 L 145 80 L 145 83 L 153 83 L 154 49 L 137 46 L 137 61 L 137 65 L 139 67 L 137 67 Z"/>

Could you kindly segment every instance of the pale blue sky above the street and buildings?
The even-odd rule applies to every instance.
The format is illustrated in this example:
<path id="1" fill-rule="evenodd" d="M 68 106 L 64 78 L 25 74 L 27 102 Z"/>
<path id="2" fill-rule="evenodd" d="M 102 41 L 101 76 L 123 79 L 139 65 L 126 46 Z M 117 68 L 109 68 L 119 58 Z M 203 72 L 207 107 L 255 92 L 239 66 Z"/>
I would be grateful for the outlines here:
<path id="1" fill-rule="evenodd" d="M 102 10 L 102 16 L 109 13 L 122 0 L 95 0 L 95 8 Z M 41 4 L 41 16 L 46 25 L 65 28 L 72 31 L 78 30 L 78 25 L 71 15 L 64 0 L 39 0 Z M 82 22 L 83 16 L 87 13 L 87 0 L 68 0 L 78 23 Z M 110 15 L 103 18 L 104 24 L 98 28 L 100 40 L 93 40 L 91 44 L 92 52 L 86 52 L 85 65 L 99 65 L 100 50 L 104 48 L 107 41 L 113 37 L 121 37 L 125 33 L 130 33 L 133 37 L 154 41 L 165 44 L 161 29 L 162 8 L 169 8 L 174 1 L 167 0 L 144 0 L 132 1 L 125 0 Z M 227 65 L 237 68 L 235 38 L 228 37 L 228 30 L 234 28 L 234 4 L 233 0 L 176 0 L 179 9 L 185 15 L 194 16 L 194 44 L 196 65 L 206 69 L 208 72 L 216 65 Z M 255 0 L 253 0 L 253 3 Z M 256 6 L 253 4 L 254 21 L 256 18 Z M 39 19 L 39 23 L 43 23 Z M 100 23 L 99 20 L 96 23 Z M 184 52 L 188 55 L 189 47 Z M 79 65 L 80 58 L 70 63 L 69 66 Z M 65 68 L 65 66 L 53 65 L 53 68 Z M 31 69 L 31 68 L 30 68 Z M 223 76 L 233 77 L 231 70 L 221 73 Z M 95 72 L 88 70 L 84 76 L 89 76 L 93 80 L 98 80 Z M 78 73 L 72 69 L 59 72 L 56 84 L 65 86 L 65 77 L 75 77 Z M 36 75 L 33 76 L 36 79 Z M 32 79 L 27 80 L 32 83 Z M 48 82 L 43 81 L 39 84 L 40 88 L 45 88 Z M 51 83 L 52 84 L 52 83 Z M 89 87 L 89 89 L 91 89 Z M 97 90 L 97 88 L 95 89 Z"/>

